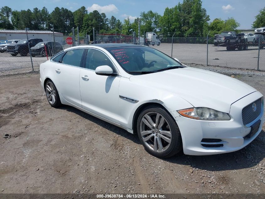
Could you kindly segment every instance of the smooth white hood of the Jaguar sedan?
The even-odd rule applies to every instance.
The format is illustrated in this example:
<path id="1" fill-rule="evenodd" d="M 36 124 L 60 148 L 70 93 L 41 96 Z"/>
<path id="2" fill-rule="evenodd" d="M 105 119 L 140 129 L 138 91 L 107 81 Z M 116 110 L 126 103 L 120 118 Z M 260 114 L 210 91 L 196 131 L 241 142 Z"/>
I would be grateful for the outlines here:
<path id="1" fill-rule="evenodd" d="M 194 107 L 207 107 L 224 113 L 230 112 L 232 103 L 257 91 L 232 77 L 192 67 L 133 75 L 130 81 L 172 92 Z"/>

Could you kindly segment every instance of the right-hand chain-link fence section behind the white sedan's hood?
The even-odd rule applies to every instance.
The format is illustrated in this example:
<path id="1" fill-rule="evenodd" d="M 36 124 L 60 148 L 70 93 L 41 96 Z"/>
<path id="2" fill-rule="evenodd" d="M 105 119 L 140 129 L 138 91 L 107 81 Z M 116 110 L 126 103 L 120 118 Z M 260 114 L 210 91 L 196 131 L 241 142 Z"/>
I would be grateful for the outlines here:
<path id="1" fill-rule="evenodd" d="M 185 64 L 265 71 L 265 37 L 255 35 L 255 38 L 242 36 L 220 41 L 215 37 L 163 37 L 159 46 L 150 47 Z"/>

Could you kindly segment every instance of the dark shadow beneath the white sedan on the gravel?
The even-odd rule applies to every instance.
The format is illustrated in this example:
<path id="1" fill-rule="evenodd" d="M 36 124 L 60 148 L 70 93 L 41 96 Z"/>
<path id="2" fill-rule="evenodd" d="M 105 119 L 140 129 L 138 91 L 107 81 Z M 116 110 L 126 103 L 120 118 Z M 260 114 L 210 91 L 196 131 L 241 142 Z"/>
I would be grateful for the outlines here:
<path id="1" fill-rule="evenodd" d="M 141 145 L 138 135 L 131 134 L 124 129 L 121 129 L 113 124 L 109 124 L 101 119 L 98 119 L 92 115 L 84 113 L 77 108 L 63 105 L 60 109 L 76 113 L 77 115 L 87 119 L 99 126 L 114 132 L 117 135 L 123 136 L 136 144 Z M 260 135 L 252 141 L 245 148 L 230 153 L 208 155 L 208 156 L 191 156 L 180 153 L 171 158 L 161 158 L 161 160 L 169 163 L 188 165 L 193 168 L 198 168 L 208 171 L 225 171 L 225 170 L 237 170 L 245 169 L 256 166 L 265 158 L 265 132 L 262 130 Z M 144 150 L 144 147 L 142 147 Z"/>

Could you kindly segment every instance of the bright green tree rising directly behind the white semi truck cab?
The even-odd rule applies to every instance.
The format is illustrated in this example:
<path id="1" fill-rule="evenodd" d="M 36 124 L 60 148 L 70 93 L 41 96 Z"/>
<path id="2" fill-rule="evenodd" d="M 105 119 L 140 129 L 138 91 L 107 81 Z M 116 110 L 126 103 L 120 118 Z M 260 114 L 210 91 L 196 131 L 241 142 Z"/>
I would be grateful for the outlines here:
<path id="1" fill-rule="evenodd" d="M 142 23 L 141 30 L 146 32 L 151 32 L 151 31 L 156 32 L 160 17 L 161 17 L 160 14 L 158 14 L 157 12 L 153 12 L 152 10 L 149 10 L 147 13 L 145 11 L 141 12 L 140 13 L 140 18 Z"/>

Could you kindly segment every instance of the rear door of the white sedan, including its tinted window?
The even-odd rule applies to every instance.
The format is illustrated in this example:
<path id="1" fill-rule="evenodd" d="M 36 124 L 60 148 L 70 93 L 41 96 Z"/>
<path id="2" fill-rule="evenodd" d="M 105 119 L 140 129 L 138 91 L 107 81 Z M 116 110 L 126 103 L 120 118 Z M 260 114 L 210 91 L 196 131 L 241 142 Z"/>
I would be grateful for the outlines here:
<path id="1" fill-rule="evenodd" d="M 67 102 L 78 107 L 82 107 L 79 74 L 84 52 L 85 48 L 68 50 L 61 58 L 54 60 L 54 83 L 58 92 Z"/>

